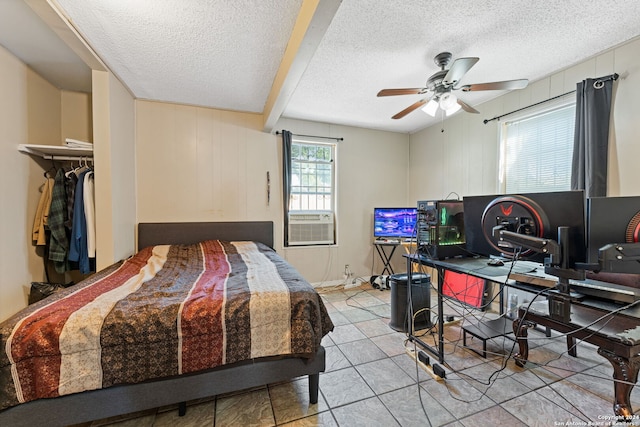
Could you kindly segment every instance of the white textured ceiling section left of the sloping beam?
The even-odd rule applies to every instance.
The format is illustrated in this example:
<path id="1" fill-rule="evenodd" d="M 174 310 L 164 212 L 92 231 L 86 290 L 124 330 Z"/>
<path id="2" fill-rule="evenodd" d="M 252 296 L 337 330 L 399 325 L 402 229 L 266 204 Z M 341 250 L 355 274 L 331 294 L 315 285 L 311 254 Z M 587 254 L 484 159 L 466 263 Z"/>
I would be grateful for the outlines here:
<path id="1" fill-rule="evenodd" d="M 302 0 L 58 0 L 138 98 L 261 113 Z"/>

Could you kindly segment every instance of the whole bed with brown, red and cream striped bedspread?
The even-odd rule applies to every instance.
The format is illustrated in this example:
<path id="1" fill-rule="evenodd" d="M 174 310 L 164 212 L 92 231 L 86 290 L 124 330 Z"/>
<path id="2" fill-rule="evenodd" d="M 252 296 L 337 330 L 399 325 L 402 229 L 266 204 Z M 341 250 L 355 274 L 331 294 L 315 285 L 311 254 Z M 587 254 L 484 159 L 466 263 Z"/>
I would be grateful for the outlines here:
<path id="1" fill-rule="evenodd" d="M 0 324 L 0 425 L 184 411 L 305 375 L 316 403 L 333 324 L 272 247 L 272 222 L 139 224 L 135 256 Z"/>

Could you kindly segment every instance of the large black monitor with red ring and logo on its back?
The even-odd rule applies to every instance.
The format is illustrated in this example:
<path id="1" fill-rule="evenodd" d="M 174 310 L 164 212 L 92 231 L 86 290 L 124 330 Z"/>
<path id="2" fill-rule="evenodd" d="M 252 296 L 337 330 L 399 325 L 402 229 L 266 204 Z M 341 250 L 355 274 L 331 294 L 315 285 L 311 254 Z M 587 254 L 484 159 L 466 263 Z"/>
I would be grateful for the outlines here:
<path id="1" fill-rule="evenodd" d="M 464 224 L 469 252 L 544 262 L 546 254 L 521 249 L 495 236 L 500 229 L 558 240 L 558 228 L 568 227 L 567 265 L 587 260 L 585 196 L 583 191 L 503 194 L 464 197 Z"/>

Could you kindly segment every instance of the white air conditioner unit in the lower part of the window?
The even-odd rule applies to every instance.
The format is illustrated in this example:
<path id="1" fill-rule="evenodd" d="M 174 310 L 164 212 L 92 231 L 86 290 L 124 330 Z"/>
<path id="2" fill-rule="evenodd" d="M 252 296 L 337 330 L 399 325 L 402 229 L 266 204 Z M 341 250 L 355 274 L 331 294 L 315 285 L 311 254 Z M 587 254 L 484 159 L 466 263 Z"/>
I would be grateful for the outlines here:
<path id="1" fill-rule="evenodd" d="M 334 243 L 333 212 L 289 213 L 289 246 L 332 245 Z"/>

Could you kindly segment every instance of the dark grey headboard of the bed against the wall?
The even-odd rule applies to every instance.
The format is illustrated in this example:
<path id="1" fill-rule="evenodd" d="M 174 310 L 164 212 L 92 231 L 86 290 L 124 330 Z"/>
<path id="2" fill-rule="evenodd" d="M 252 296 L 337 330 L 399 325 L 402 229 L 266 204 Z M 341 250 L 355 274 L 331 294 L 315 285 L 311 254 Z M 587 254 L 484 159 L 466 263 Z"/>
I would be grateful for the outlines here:
<path id="1" fill-rule="evenodd" d="M 154 245 L 198 243 L 203 240 L 252 240 L 273 248 L 273 221 L 142 222 L 138 250 Z"/>

